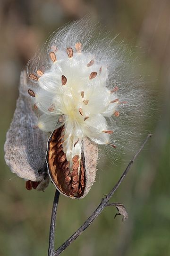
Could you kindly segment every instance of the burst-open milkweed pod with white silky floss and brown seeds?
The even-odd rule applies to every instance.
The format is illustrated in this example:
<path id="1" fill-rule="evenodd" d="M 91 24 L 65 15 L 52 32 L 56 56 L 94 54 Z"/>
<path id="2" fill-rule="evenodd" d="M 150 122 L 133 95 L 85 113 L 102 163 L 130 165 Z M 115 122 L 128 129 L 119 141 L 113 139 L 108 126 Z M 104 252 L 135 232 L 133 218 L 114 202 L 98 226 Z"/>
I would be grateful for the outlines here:
<path id="1" fill-rule="evenodd" d="M 96 32 L 87 23 L 59 30 L 27 66 L 28 93 L 40 113 L 37 126 L 52 132 L 49 175 L 71 198 L 83 198 L 95 180 L 97 145 L 116 148 L 114 134 L 124 136 L 119 113 L 127 116 L 132 105 L 137 109 L 122 49 L 94 40 Z"/>

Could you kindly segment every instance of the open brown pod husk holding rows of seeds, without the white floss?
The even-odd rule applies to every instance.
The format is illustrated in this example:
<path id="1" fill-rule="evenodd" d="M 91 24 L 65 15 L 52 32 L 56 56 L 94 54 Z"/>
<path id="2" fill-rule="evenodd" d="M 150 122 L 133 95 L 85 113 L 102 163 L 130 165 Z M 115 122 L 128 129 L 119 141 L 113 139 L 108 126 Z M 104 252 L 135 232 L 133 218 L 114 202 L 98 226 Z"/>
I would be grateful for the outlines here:
<path id="1" fill-rule="evenodd" d="M 60 193 L 73 199 L 84 198 L 95 181 L 98 147 L 84 138 L 81 155 L 75 155 L 69 163 L 63 152 L 63 133 L 64 127 L 58 128 L 49 138 L 46 155 L 48 172 Z"/>

